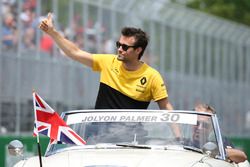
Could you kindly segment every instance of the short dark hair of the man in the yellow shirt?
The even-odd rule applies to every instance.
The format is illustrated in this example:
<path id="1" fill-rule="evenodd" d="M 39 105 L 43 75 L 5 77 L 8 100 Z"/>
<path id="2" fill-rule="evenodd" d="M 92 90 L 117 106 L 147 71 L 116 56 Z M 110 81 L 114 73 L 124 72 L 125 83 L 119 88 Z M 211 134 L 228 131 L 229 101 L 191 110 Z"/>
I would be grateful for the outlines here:
<path id="1" fill-rule="evenodd" d="M 140 28 L 134 28 L 134 27 L 124 27 L 121 33 L 125 37 L 135 37 L 136 42 L 134 45 L 142 48 L 142 51 L 138 57 L 138 59 L 140 60 L 148 45 L 149 36 L 146 34 L 146 32 L 144 32 Z"/>

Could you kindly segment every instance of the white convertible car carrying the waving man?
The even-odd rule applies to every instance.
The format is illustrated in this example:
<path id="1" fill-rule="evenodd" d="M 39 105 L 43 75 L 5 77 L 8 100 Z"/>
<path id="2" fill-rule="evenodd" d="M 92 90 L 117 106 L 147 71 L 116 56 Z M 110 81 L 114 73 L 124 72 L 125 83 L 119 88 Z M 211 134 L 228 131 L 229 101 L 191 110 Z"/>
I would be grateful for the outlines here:
<path id="1" fill-rule="evenodd" d="M 86 145 L 49 144 L 43 167 L 238 167 L 229 162 L 217 116 L 194 111 L 77 110 L 62 114 Z M 176 136 L 181 130 L 182 136 Z M 13 144 L 10 151 L 19 150 Z M 18 152 L 18 151 L 17 151 Z M 15 167 L 39 167 L 39 157 Z"/>

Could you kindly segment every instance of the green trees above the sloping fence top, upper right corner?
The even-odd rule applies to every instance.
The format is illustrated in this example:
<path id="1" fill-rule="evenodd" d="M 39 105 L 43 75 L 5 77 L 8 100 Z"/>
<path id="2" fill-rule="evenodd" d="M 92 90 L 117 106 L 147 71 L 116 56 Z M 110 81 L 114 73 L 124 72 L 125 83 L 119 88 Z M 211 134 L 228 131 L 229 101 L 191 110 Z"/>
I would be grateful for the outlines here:
<path id="1" fill-rule="evenodd" d="M 250 26 L 249 0 L 189 0 L 186 5 Z"/>

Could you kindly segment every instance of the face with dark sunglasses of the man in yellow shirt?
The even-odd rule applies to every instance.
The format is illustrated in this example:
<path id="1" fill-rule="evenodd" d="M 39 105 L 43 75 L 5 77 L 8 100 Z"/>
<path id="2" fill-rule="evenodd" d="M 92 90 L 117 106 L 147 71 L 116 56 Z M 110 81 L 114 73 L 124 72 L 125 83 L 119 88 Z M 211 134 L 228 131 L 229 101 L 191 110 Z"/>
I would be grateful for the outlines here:
<path id="1" fill-rule="evenodd" d="M 134 37 L 121 36 L 117 41 L 117 59 L 123 62 L 137 61 L 139 56 L 139 50 L 135 46 Z"/>

